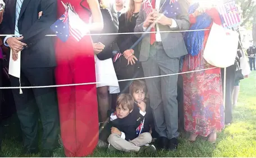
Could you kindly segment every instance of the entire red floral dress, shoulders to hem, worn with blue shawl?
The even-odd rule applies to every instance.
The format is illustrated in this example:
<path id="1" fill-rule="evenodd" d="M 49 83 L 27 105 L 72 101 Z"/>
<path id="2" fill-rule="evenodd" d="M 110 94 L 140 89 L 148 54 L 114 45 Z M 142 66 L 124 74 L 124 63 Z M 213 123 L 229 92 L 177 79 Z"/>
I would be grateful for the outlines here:
<path id="1" fill-rule="evenodd" d="M 221 25 L 217 9 L 206 13 L 212 20 Z M 190 23 L 196 23 L 196 17 L 189 15 Z M 209 26 L 206 29 L 211 29 Z M 203 47 L 207 42 L 210 30 L 204 31 Z M 189 66 L 190 65 L 190 66 Z M 203 51 L 198 55 L 188 54 L 184 59 L 182 71 L 213 68 L 203 58 Z M 184 79 L 184 128 L 196 135 L 208 136 L 212 132 L 221 131 L 224 127 L 224 107 L 222 97 L 221 69 L 202 70 L 183 75 Z"/>

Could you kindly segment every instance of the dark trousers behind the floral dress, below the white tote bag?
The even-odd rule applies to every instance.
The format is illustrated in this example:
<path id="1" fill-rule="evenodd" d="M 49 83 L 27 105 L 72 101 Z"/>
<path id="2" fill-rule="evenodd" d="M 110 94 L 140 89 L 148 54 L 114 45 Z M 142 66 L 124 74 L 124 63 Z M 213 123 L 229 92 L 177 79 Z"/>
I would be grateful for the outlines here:
<path id="1" fill-rule="evenodd" d="M 225 102 L 225 124 L 232 122 L 232 93 L 235 84 L 236 65 L 226 68 L 226 102 Z M 224 69 L 221 69 L 222 89 L 224 90 Z M 224 91 L 223 91 L 224 92 Z"/>

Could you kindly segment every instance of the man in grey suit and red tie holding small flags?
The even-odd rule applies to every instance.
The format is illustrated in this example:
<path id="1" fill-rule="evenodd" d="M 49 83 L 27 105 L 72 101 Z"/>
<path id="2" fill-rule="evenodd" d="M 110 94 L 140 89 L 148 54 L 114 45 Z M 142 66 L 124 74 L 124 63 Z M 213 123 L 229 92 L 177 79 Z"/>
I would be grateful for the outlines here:
<path id="1" fill-rule="evenodd" d="M 143 2 L 134 32 L 152 32 L 144 33 L 141 41 L 139 61 L 145 77 L 179 73 L 180 57 L 188 54 L 182 33 L 159 31 L 188 30 L 189 26 L 186 0 Z M 160 149 L 176 150 L 178 145 L 177 79 L 178 75 L 145 79 Z"/>

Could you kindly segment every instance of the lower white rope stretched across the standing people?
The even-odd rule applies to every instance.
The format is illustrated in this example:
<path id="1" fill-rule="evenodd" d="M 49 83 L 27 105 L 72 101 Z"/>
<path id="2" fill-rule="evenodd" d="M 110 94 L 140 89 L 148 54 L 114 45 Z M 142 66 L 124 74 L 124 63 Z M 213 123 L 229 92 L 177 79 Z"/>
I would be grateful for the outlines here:
<path id="1" fill-rule="evenodd" d="M 118 82 L 125 82 L 125 81 L 130 81 L 130 80 L 139 80 L 139 79 L 159 78 L 159 77 L 164 77 L 164 76 L 172 76 L 172 75 L 180 75 L 180 74 L 188 74 L 188 73 L 195 73 L 195 72 L 198 72 L 198 71 L 211 70 L 211 69 L 216 69 L 216 68 L 217 67 L 207 68 L 207 69 L 200 69 L 200 70 L 193 70 L 193 71 L 186 71 L 186 72 L 175 73 L 175 74 L 148 76 L 148 77 L 143 77 L 143 78 L 123 79 L 123 80 L 118 80 Z M 44 86 L 32 86 L 32 87 L 0 87 L 0 89 L 52 88 L 52 87 L 68 87 L 68 86 L 77 86 L 77 85 L 89 85 L 89 84 L 98 84 L 98 83 L 100 83 L 100 82 L 76 83 L 76 84 L 61 84 L 61 85 L 44 85 Z"/>

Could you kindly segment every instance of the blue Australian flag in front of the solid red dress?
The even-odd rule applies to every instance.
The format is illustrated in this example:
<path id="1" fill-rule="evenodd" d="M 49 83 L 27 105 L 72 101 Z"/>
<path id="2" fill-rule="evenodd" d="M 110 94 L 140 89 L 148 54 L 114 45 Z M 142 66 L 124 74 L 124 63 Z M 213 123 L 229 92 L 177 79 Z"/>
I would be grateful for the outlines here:
<path id="1" fill-rule="evenodd" d="M 66 42 L 69 37 L 68 15 L 67 11 L 51 26 L 51 30 L 63 41 Z"/>

